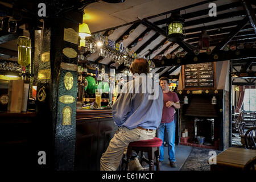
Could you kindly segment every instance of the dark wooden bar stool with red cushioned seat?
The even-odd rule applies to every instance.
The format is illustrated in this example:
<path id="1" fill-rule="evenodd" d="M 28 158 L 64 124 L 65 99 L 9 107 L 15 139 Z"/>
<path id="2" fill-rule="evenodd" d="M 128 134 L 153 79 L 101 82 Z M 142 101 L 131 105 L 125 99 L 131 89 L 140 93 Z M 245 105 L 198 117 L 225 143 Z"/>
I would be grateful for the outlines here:
<path id="1" fill-rule="evenodd" d="M 129 162 L 131 160 L 132 150 L 136 151 L 137 154 L 139 151 L 142 152 L 141 155 L 141 162 L 146 162 L 150 166 L 150 171 L 154 171 L 154 154 L 156 159 L 156 171 L 160 171 L 159 167 L 159 156 L 160 156 L 160 150 L 159 147 L 162 146 L 162 139 L 160 138 L 153 138 L 150 140 L 139 140 L 136 142 L 130 142 L 128 148 L 127 148 L 127 163 L 125 170 L 128 170 Z M 145 158 L 144 152 L 147 152 L 148 159 Z"/>

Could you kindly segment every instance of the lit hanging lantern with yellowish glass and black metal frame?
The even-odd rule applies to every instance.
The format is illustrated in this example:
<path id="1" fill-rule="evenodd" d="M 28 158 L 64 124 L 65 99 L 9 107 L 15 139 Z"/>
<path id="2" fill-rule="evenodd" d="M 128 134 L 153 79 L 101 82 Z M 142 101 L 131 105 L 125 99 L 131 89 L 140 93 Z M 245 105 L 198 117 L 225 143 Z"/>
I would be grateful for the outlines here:
<path id="1" fill-rule="evenodd" d="M 184 40 L 183 23 L 184 19 L 179 12 L 172 13 L 171 23 L 168 25 L 168 41 L 180 42 Z"/>

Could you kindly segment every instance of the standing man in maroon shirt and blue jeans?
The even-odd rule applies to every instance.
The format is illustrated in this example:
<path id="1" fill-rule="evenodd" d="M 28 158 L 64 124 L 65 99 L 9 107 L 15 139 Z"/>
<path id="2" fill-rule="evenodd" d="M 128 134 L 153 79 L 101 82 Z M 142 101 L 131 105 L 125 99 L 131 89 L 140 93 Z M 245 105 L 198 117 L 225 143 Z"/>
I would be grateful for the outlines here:
<path id="1" fill-rule="evenodd" d="M 168 155 L 171 167 L 177 167 L 175 163 L 175 122 L 174 110 L 180 109 L 180 102 L 177 94 L 169 90 L 169 79 L 161 77 L 160 86 L 163 89 L 163 114 L 158 128 L 158 137 L 164 142 L 164 131 L 166 130 L 168 138 Z M 160 163 L 164 159 L 164 145 L 160 146 Z"/>

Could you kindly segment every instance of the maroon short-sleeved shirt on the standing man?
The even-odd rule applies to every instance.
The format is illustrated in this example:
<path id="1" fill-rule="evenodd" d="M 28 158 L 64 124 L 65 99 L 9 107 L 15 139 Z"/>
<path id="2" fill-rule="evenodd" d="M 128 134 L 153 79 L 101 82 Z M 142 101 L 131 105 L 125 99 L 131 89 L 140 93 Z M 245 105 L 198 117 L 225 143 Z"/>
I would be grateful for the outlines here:
<path id="1" fill-rule="evenodd" d="M 172 101 L 172 102 L 179 102 L 179 97 L 177 97 L 177 94 L 175 92 L 168 92 L 168 93 L 163 93 L 163 99 L 164 99 L 164 104 L 163 104 L 163 113 L 162 113 L 162 119 L 161 123 L 170 123 L 174 121 L 174 110 L 175 107 L 166 107 L 166 102 Z"/>

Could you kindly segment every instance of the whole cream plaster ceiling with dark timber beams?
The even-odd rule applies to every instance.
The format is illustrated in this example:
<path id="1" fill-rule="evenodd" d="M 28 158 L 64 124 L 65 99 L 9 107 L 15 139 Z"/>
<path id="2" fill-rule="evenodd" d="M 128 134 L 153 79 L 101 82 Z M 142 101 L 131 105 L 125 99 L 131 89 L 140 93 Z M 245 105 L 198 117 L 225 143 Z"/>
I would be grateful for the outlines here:
<path id="1" fill-rule="evenodd" d="M 1 1 L 5 7 L 11 8 L 18 1 Z M 26 1 L 33 3 L 32 1 Z M 68 2 L 68 1 L 64 1 Z M 162 60 L 154 59 L 158 66 L 152 72 L 160 76 L 173 76 L 179 74 L 180 65 L 191 63 L 189 55 L 193 55 L 193 48 L 198 45 L 202 30 L 207 30 L 210 35 L 210 48 L 212 51 L 220 50 L 226 44 L 240 44 L 256 42 L 256 2 L 250 0 L 217 0 L 217 1 L 176 1 L 176 0 L 126 0 L 123 3 L 106 3 L 102 1 L 73 1 L 83 3 L 85 12 L 84 23 L 88 23 L 92 33 L 100 32 L 115 42 L 123 42 L 124 47 L 136 52 L 139 57 L 153 59 L 158 55 Z M 85 3 L 86 2 L 86 3 Z M 23 2 L 24 3 L 24 2 Z M 209 3 L 216 3 L 217 16 L 210 17 Z M 69 4 L 71 2 L 69 1 Z M 79 4 L 80 5 L 80 4 Z M 23 5 L 24 7 L 24 5 Z M 33 7 L 33 6 L 31 6 Z M 81 9 L 81 7 L 80 7 Z M 185 40 L 181 43 L 168 42 L 166 27 L 170 23 L 171 13 L 179 10 L 183 16 Z M 29 11 L 26 13 L 29 13 Z M 109 30 L 114 30 L 108 35 Z M 0 32 L 0 56 L 15 56 L 16 38 L 24 34 L 24 22 L 20 22 L 17 34 Z M 127 39 L 123 36 L 127 35 Z M 176 60 L 167 60 L 167 53 L 185 52 L 187 60 L 177 63 Z M 204 50 L 200 51 L 204 53 Z M 200 53 L 200 55 L 201 55 Z M 221 54 L 221 53 L 220 53 Z M 225 55 L 225 53 L 222 53 Z M 246 53 L 247 54 L 247 53 Z M 256 52 L 251 51 L 249 56 L 239 56 L 238 59 L 230 58 L 234 68 L 238 71 L 251 69 L 255 71 Z M 201 57 L 204 57 L 203 55 Z M 223 56 L 219 56 L 223 57 Z M 110 65 L 113 62 L 108 58 L 98 56 L 98 51 L 87 55 L 86 58 L 95 63 Z M 200 58 L 200 56 L 199 56 Z"/>

